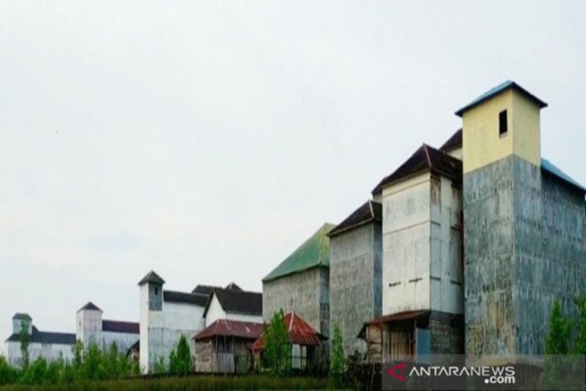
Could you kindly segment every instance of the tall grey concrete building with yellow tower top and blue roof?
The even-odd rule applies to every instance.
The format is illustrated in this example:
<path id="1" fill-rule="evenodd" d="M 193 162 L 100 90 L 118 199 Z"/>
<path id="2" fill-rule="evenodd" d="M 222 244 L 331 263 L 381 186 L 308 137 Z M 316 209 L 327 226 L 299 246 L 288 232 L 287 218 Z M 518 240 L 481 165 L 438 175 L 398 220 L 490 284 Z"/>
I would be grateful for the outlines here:
<path id="1" fill-rule="evenodd" d="M 586 288 L 586 191 L 541 158 L 546 106 L 506 81 L 456 111 L 468 353 L 543 353 L 553 300 Z"/>

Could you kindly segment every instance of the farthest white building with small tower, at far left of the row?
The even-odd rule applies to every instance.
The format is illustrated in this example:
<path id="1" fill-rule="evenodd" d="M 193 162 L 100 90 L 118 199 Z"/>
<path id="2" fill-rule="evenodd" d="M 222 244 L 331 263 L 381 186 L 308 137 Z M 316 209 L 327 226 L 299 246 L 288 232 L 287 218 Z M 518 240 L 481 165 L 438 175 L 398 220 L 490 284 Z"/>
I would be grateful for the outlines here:
<path id="1" fill-rule="evenodd" d="M 53 361 L 62 357 L 73 358 L 71 348 L 75 344 L 76 335 L 62 332 L 39 331 L 33 325 L 29 314 L 17 313 L 12 317 L 12 335 L 6 339 L 6 359 L 12 366 L 22 366 L 20 331 L 23 322 L 28 325 L 29 334 L 29 359 L 30 362 L 42 357 L 47 361 Z"/>

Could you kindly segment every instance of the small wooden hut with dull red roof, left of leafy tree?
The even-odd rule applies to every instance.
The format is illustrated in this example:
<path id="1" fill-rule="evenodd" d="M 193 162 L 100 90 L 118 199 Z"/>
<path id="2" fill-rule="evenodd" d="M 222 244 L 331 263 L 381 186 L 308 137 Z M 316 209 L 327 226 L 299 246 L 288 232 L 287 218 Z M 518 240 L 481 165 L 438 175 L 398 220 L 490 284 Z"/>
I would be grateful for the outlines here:
<path id="1" fill-rule="evenodd" d="M 217 319 L 193 337 L 196 372 L 250 372 L 253 369 L 250 346 L 262 332 L 261 323 Z"/>

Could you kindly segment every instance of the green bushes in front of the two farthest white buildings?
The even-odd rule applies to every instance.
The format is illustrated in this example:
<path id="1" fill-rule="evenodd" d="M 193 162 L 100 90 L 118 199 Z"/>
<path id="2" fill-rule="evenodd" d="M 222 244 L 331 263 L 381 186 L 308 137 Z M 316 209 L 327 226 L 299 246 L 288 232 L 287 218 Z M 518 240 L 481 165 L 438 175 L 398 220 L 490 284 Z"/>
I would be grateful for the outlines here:
<path id="1" fill-rule="evenodd" d="M 22 369 L 12 368 L 4 357 L 0 357 L 0 385 L 71 385 L 88 380 L 113 380 L 128 378 L 140 373 L 138 363 L 118 352 L 112 344 L 107 352 L 102 352 L 96 344 L 84 350 L 81 342 L 72 348 L 73 360 L 59 358 L 47 363 L 38 358 Z M 25 361 L 26 363 L 26 361 Z"/>

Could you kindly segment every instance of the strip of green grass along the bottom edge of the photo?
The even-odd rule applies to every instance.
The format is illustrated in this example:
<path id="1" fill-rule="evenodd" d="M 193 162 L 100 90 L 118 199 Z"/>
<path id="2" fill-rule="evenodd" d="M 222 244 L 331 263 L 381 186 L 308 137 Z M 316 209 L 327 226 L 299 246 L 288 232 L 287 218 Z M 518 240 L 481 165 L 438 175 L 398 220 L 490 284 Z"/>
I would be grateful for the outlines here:
<path id="1" fill-rule="evenodd" d="M 333 389 L 327 378 L 272 378 L 269 376 L 189 376 L 184 378 L 157 378 L 112 380 L 47 386 L 0 386 L 0 391 L 207 391 L 207 390 L 323 390 Z"/>

